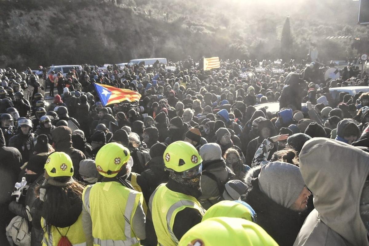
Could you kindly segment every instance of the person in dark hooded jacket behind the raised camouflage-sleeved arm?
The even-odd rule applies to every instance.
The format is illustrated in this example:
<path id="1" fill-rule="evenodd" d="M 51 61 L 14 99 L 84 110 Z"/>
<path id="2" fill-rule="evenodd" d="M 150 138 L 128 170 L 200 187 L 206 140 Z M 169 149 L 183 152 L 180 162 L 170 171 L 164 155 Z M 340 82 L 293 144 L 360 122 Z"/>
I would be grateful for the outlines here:
<path id="1" fill-rule="evenodd" d="M 256 150 L 258 150 L 259 146 L 264 141 L 264 139 L 270 138 L 271 136 L 275 136 L 275 135 L 276 135 L 275 127 L 269 119 L 262 119 L 261 121 L 259 121 L 258 136 L 252 139 L 247 145 L 245 164 L 248 166 L 251 166 Z M 273 153 L 276 150 L 277 150 L 277 145 L 275 145 L 273 149 L 270 150 L 268 160 L 270 160 L 270 157 L 272 157 Z"/>

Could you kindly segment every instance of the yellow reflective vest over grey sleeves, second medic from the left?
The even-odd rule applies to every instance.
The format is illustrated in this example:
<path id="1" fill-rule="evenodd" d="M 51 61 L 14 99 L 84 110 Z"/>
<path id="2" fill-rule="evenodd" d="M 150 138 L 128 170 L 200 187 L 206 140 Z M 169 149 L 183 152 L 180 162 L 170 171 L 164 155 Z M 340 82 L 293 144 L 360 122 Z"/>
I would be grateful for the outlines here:
<path id="1" fill-rule="evenodd" d="M 141 192 L 116 181 L 87 186 L 83 190 L 82 201 L 91 216 L 93 245 L 139 246 L 131 225 L 133 215 L 143 200 Z"/>

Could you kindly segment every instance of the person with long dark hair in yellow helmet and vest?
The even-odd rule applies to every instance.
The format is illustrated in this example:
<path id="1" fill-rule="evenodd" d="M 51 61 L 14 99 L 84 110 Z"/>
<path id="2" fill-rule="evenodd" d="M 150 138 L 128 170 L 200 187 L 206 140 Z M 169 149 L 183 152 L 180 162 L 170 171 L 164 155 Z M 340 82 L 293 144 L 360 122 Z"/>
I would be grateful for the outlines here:
<path id="1" fill-rule="evenodd" d="M 73 163 L 64 152 L 49 155 L 45 164 L 45 182 L 36 188 L 41 226 L 42 246 L 56 246 L 60 240 L 85 246 L 82 227 L 82 192 L 84 186 L 73 179 Z M 65 238 L 66 237 L 66 238 Z"/>

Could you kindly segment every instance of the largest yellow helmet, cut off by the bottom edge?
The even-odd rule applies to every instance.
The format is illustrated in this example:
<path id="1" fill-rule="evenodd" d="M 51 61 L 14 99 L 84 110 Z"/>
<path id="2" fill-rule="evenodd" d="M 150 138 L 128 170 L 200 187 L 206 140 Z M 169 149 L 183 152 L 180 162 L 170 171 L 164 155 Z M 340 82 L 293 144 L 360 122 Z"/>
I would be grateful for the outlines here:
<path id="1" fill-rule="evenodd" d="M 178 246 L 278 246 L 254 222 L 241 218 L 215 217 L 189 229 Z"/>

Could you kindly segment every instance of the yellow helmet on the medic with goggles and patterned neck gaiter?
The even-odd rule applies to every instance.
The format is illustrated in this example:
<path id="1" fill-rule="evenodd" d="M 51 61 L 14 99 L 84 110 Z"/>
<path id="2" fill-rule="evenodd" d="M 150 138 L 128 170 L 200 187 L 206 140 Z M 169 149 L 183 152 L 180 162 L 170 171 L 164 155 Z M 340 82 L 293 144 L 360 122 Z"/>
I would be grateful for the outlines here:
<path id="1" fill-rule="evenodd" d="M 176 141 L 168 145 L 163 158 L 167 169 L 179 173 L 199 166 L 203 162 L 195 147 L 184 141 Z"/>

